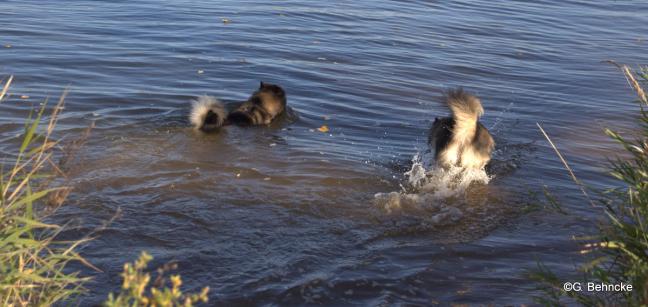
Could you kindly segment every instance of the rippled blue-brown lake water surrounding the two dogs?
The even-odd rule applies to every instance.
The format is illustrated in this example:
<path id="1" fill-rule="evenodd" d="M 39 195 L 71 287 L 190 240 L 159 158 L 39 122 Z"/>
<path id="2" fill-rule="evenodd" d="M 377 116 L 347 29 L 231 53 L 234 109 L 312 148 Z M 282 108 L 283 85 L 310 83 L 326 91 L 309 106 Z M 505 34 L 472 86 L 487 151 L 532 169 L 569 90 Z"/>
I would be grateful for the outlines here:
<path id="1" fill-rule="evenodd" d="M 58 135 L 96 124 L 55 217 L 75 219 L 75 236 L 121 208 L 83 249 L 103 271 L 83 268 L 83 304 L 117 290 L 122 264 L 147 250 L 224 306 L 519 305 L 537 294 L 523 274 L 538 260 L 577 276 L 572 235 L 601 213 L 536 122 L 581 180 L 615 184 L 602 129 L 633 129 L 637 105 L 603 61 L 648 63 L 648 4 L 2 1 L 0 47 L 0 75 L 15 75 L 3 155 L 30 107 L 65 87 Z M 191 99 L 243 100 L 260 80 L 284 87 L 288 116 L 189 127 Z M 427 131 L 455 86 L 482 98 L 490 183 L 413 189 L 406 173 L 429 159 Z M 569 215 L 534 210 L 543 186 Z"/>

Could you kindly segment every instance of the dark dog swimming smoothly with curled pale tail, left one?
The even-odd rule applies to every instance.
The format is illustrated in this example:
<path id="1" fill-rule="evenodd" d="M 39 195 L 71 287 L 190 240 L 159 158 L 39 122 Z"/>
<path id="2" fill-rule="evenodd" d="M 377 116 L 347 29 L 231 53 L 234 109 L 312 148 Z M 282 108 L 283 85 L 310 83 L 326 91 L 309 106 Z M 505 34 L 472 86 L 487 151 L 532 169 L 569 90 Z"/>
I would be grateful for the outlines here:
<path id="1" fill-rule="evenodd" d="M 248 100 L 229 113 L 215 97 L 199 97 L 193 102 L 189 121 L 195 129 L 211 132 L 227 125 L 267 125 L 285 109 L 286 92 L 278 85 L 262 81 Z"/>

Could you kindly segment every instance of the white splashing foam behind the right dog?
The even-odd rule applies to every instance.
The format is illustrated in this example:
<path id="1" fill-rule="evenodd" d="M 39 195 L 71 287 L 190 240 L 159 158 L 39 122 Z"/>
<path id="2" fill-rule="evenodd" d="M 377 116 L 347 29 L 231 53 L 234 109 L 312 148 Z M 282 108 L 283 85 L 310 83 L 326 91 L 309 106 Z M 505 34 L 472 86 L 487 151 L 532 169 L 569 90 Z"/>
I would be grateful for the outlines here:
<path id="1" fill-rule="evenodd" d="M 487 184 L 491 179 L 483 169 L 437 167 L 429 154 L 416 154 L 411 169 L 404 175 L 401 191 L 377 193 L 374 203 L 387 214 L 423 214 L 434 225 L 461 219 L 460 207 L 471 184 Z"/>

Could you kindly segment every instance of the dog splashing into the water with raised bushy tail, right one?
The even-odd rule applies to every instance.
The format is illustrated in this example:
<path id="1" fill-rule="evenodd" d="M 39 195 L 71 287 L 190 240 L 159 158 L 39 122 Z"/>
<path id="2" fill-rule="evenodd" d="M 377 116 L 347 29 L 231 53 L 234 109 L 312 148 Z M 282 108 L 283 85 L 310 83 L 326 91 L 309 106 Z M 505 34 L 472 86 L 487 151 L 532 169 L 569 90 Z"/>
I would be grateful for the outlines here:
<path id="1" fill-rule="evenodd" d="M 428 144 L 434 146 L 437 164 L 447 168 L 481 169 L 490 161 L 495 141 L 479 122 L 484 108 L 479 98 L 458 88 L 449 90 L 445 103 L 452 117 L 435 118 Z"/>

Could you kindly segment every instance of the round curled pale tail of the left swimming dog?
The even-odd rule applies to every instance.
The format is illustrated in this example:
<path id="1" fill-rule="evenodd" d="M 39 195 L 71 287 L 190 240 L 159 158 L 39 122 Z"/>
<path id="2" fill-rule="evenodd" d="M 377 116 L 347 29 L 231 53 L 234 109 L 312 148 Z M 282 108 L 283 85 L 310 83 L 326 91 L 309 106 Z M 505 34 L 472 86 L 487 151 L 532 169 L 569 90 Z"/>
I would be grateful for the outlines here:
<path id="1" fill-rule="evenodd" d="M 223 126 L 227 111 L 223 104 L 212 96 L 200 96 L 193 101 L 189 121 L 201 131 L 213 131 Z"/>

